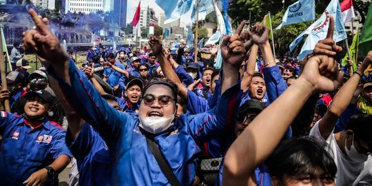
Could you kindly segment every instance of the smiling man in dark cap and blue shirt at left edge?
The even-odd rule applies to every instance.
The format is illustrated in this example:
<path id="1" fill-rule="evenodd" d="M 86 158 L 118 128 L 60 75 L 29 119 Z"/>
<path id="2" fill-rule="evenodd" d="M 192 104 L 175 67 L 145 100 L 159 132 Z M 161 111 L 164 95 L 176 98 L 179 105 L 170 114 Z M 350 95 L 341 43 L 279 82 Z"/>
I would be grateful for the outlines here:
<path id="1" fill-rule="evenodd" d="M 1 185 L 53 185 L 70 163 L 65 130 L 46 117 L 53 97 L 45 90 L 25 94 L 22 115 L 1 111 Z"/>

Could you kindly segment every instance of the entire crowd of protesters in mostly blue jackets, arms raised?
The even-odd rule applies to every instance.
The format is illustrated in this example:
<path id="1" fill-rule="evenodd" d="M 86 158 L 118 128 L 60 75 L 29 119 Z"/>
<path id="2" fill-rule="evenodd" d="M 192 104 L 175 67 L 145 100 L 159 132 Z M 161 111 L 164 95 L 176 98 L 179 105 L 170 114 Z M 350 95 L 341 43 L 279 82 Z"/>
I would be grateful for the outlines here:
<path id="1" fill-rule="evenodd" d="M 372 52 L 340 67 L 333 18 L 302 61 L 274 57 L 265 24 L 243 22 L 203 55 L 151 35 L 77 66 L 30 15 L 23 48 L 43 68 L 28 72 L 14 43 L 0 185 L 58 185 L 70 163 L 70 185 L 372 185 Z"/>

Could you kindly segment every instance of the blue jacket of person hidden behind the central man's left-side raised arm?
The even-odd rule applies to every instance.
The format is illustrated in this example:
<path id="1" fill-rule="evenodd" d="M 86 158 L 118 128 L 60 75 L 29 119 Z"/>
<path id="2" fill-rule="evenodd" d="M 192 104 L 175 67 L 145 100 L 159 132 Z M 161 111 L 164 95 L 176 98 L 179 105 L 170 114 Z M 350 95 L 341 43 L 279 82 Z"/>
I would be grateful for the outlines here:
<path id="1" fill-rule="evenodd" d="M 110 154 L 98 132 L 85 123 L 75 141 L 66 134 L 66 144 L 76 158 L 79 185 L 111 185 Z"/>

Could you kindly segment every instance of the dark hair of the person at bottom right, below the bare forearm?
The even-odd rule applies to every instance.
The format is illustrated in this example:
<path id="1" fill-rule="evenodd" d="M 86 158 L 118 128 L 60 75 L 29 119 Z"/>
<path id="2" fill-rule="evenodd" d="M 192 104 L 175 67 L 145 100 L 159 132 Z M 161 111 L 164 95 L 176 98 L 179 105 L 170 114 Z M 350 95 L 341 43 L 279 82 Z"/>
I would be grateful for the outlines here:
<path id="1" fill-rule="evenodd" d="M 325 144 L 311 137 L 283 141 L 266 161 L 269 174 L 282 180 L 284 176 L 298 177 L 322 169 L 334 179 L 337 167 L 325 148 Z"/>

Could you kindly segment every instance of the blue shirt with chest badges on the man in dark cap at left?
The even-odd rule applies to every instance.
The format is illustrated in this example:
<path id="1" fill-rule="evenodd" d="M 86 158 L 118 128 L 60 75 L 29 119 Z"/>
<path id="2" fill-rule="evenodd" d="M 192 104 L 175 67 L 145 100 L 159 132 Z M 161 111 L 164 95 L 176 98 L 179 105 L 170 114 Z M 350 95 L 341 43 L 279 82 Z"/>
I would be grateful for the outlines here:
<path id="1" fill-rule="evenodd" d="M 32 173 L 50 165 L 62 154 L 71 156 L 65 145 L 65 130 L 57 123 L 45 120 L 32 130 L 23 116 L 3 111 L 0 115 L 3 136 L 0 185 L 23 185 Z"/>

